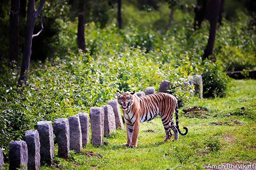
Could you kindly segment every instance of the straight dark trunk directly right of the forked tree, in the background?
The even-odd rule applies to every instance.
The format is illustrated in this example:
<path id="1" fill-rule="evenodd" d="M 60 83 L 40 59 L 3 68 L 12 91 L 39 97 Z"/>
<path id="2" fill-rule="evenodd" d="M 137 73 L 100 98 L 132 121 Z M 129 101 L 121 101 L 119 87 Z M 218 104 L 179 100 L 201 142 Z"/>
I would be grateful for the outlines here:
<path id="1" fill-rule="evenodd" d="M 78 42 L 77 42 L 78 49 L 81 49 L 84 51 L 85 39 L 84 39 L 84 1 L 83 0 L 79 0 L 77 39 L 78 39 Z"/>

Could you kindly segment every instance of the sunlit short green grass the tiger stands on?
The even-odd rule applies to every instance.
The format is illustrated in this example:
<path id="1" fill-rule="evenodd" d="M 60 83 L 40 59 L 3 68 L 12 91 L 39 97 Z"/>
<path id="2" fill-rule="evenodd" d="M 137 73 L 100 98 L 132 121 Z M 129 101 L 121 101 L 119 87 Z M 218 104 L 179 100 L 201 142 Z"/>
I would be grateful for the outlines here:
<path id="1" fill-rule="evenodd" d="M 126 130 L 104 138 L 107 146 L 92 145 L 68 160 L 57 157 L 53 167 L 42 169 L 202 169 L 201 164 L 256 161 L 256 81 L 234 80 L 225 98 L 193 99 L 188 106 L 207 108 L 206 115 L 189 118 L 180 108 L 180 127 L 188 134 L 161 143 L 160 118 L 140 126 L 138 147 L 126 148 Z M 244 108 L 242 108 L 244 107 Z"/>

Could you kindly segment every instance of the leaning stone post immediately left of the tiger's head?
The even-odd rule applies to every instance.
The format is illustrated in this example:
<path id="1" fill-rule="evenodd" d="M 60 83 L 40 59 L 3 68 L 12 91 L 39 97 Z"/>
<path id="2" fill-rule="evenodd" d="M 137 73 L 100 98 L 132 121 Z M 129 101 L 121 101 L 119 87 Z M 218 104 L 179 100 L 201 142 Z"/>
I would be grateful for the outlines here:
<path id="1" fill-rule="evenodd" d="M 110 100 L 108 105 L 112 106 L 114 114 L 115 114 L 115 127 L 116 129 L 123 129 L 123 121 L 122 121 L 122 115 L 120 111 L 120 105 L 117 102 L 117 99 Z"/>

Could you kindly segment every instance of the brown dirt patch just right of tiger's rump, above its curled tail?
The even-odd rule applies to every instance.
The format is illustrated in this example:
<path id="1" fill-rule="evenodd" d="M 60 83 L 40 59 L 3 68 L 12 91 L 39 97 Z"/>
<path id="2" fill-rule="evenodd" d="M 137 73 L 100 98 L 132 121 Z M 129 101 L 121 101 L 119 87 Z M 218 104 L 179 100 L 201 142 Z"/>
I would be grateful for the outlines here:
<path id="1" fill-rule="evenodd" d="M 184 115 L 189 118 L 202 118 L 208 115 L 207 108 L 199 106 L 186 107 L 183 109 L 183 112 Z"/>

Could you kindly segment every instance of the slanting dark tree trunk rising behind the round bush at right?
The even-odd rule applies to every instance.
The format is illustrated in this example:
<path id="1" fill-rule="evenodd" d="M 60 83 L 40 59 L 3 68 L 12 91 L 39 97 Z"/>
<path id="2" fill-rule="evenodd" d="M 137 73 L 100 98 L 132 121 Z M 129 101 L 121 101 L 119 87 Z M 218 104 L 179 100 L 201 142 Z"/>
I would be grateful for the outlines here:
<path id="1" fill-rule="evenodd" d="M 209 31 L 209 38 L 208 38 L 208 43 L 206 46 L 206 49 L 204 50 L 204 56 L 203 60 L 208 58 L 209 56 L 212 55 L 211 60 L 215 61 L 215 56 L 212 54 L 213 48 L 214 48 L 214 41 L 215 41 L 215 34 L 216 34 L 216 27 L 217 27 L 217 21 L 219 18 L 219 7 L 220 7 L 220 1 L 216 0 L 213 6 L 213 11 L 212 11 L 212 17 L 208 19 L 210 21 L 210 31 Z"/>

